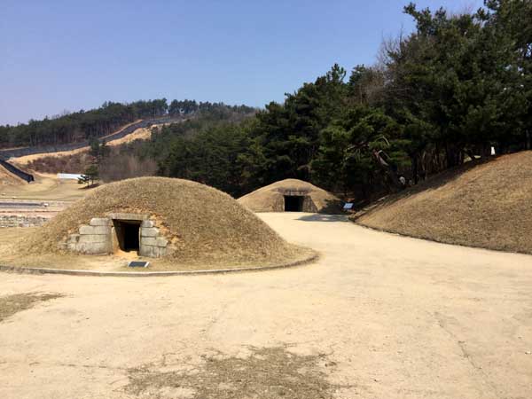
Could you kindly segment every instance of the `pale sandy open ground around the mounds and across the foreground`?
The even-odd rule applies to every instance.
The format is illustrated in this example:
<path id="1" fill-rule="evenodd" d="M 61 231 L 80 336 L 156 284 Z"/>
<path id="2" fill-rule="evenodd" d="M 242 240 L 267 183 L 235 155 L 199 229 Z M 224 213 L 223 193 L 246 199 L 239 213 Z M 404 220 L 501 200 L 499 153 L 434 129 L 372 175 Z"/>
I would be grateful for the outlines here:
<path id="1" fill-rule="evenodd" d="M 0 397 L 190 398 L 176 371 L 205 377 L 202 356 L 250 347 L 324 356 L 335 397 L 532 397 L 532 256 L 341 216 L 261 217 L 320 261 L 185 278 L 0 274 L 0 296 L 64 295 L 0 323 Z M 246 376 L 264 377 L 253 364 Z"/>

